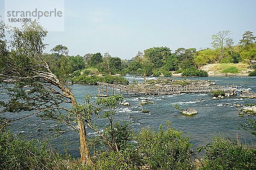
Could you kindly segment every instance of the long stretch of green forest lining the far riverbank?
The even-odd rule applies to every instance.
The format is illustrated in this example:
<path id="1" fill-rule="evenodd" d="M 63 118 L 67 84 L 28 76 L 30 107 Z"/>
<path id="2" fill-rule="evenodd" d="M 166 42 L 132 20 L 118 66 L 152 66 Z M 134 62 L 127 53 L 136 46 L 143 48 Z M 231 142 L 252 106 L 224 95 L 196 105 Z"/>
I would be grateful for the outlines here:
<path id="1" fill-rule="evenodd" d="M 169 47 L 152 47 L 138 53 L 130 60 L 112 57 L 110 53 L 85 54 L 69 56 L 68 48 L 56 45 L 52 54 L 43 54 L 55 74 L 62 74 L 72 82 L 94 84 L 98 80 L 110 79 L 108 75 L 139 74 L 147 76 L 171 77 L 173 73 L 182 73 L 183 77 L 207 76 L 200 68 L 207 64 L 226 64 L 223 73 L 239 73 L 247 69 L 251 60 L 256 60 L 256 37 L 252 31 L 245 31 L 239 41 L 229 37 L 230 31 L 219 31 L 212 35 L 212 47 L 197 50 L 196 48 L 178 48 L 172 51 Z M 240 68 L 237 63 L 244 63 Z M 221 69 L 220 65 L 218 69 Z M 253 71 L 250 75 L 254 75 Z M 99 78 L 99 77 L 105 78 Z M 126 83 L 124 79 L 112 78 L 110 82 Z M 89 83 L 92 82 L 92 83 Z"/>

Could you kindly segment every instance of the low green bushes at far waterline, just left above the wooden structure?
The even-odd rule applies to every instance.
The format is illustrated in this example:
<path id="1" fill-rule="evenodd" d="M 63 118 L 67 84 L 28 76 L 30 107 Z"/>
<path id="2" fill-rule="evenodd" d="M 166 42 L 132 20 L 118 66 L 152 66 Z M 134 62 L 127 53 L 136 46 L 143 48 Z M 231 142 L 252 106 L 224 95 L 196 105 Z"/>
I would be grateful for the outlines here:
<path id="1" fill-rule="evenodd" d="M 99 76 L 86 76 L 86 75 L 81 75 L 79 77 L 71 79 L 71 81 L 76 82 L 76 83 L 83 83 L 83 84 L 88 84 L 88 85 L 96 85 L 97 82 L 106 82 L 110 84 L 129 84 L 129 81 L 125 79 L 124 77 L 120 76 L 104 76 L 104 77 L 99 77 Z"/>

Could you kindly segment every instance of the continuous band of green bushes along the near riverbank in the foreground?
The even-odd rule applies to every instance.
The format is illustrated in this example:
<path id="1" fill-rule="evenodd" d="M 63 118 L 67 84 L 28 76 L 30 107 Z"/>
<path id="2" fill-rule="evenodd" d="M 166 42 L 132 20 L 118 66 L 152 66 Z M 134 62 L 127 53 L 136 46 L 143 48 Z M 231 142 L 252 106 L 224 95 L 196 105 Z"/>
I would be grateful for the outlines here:
<path id="1" fill-rule="evenodd" d="M 0 132 L 0 169 L 5 170 L 253 170 L 256 168 L 256 149 L 223 137 L 214 137 L 212 143 L 198 148 L 204 150 L 199 161 L 193 157 L 192 144 L 182 132 L 160 126 L 158 131 L 150 127 L 132 133 L 128 124 L 118 124 L 115 138 L 119 150 L 111 150 L 100 138 L 91 139 L 94 150 L 92 164 L 82 165 L 70 154 L 49 150 L 46 143 L 24 140 L 9 131 Z M 110 136 L 109 136 L 110 137 Z M 103 142 L 103 143 L 102 143 Z M 102 145 L 103 144 L 103 145 Z M 93 151 L 93 150 L 92 150 Z"/>

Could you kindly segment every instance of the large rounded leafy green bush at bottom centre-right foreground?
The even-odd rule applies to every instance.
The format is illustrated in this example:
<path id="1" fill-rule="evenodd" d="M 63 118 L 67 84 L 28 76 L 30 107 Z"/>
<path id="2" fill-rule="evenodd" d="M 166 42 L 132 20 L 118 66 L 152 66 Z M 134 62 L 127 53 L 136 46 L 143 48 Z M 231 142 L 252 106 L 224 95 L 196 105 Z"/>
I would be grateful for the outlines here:
<path id="1" fill-rule="evenodd" d="M 151 170 L 191 170 L 191 144 L 182 132 L 171 128 L 159 131 L 149 127 L 142 129 L 136 136 L 137 152 L 142 156 L 143 164 L 149 164 Z"/>

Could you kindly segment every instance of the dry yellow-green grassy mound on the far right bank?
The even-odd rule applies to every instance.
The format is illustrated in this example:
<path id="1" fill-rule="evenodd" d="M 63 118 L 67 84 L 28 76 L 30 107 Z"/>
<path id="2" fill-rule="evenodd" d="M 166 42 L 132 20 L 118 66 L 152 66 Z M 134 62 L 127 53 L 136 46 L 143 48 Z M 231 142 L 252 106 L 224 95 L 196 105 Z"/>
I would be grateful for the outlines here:
<path id="1" fill-rule="evenodd" d="M 215 64 L 210 68 L 210 71 L 217 71 L 219 73 L 232 73 L 237 74 L 241 73 L 241 71 L 247 70 L 248 65 L 244 63 L 222 63 Z"/>

